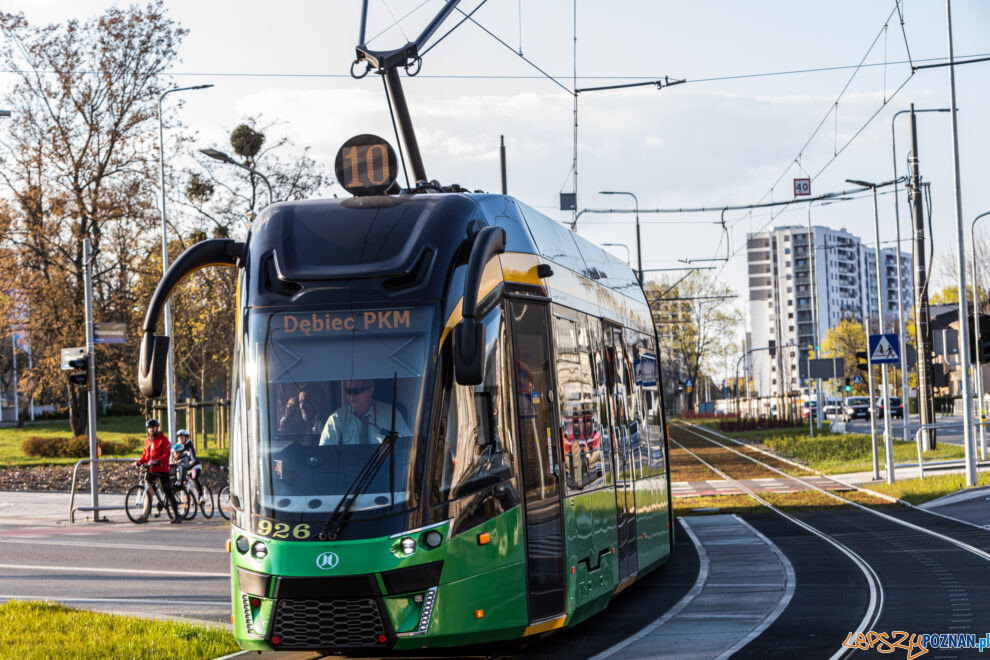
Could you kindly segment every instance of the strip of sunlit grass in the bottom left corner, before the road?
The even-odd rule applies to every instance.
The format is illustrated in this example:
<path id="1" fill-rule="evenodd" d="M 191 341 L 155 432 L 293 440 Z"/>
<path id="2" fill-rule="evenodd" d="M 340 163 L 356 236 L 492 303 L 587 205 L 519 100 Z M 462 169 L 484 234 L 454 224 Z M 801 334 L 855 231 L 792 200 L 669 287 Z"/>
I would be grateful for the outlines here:
<path id="1" fill-rule="evenodd" d="M 238 649 L 220 627 L 138 619 L 56 603 L 0 605 L 3 658 L 216 658 Z"/>

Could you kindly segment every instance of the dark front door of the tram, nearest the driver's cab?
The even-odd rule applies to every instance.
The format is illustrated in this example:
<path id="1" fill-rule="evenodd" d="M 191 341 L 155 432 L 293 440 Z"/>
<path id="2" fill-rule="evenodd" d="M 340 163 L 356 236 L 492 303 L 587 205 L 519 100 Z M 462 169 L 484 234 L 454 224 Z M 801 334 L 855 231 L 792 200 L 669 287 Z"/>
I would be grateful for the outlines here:
<path id="1" fill-rule="evenodd" d="M 510 301 L 516 411 L 524 485 L 530 622 L 564 613 L 560 452 L 545 304 Z"/>

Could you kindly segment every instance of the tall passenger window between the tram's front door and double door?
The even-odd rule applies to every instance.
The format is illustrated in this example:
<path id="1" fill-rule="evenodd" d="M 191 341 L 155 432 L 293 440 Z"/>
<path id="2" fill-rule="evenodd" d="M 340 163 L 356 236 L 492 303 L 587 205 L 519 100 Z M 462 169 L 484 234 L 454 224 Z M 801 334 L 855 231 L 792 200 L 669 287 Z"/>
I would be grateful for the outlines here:
<path id="1" fill-rule="evenodd" d="M 563 313 L 567 316 L 554 316 L 554 344 L 564 476 L 567 493 L 574 494 L 604 485 L 606 468 L 588 319 L 572 310 Z"/>

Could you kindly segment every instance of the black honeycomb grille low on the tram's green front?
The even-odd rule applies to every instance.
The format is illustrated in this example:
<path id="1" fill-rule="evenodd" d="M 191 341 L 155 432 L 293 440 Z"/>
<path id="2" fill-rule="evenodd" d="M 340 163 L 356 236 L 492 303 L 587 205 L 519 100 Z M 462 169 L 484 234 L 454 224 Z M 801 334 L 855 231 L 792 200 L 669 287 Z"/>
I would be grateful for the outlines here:
<path id="1" fill-rule="evenodd" d="M 272 637 L 278 648 L 360 648 L 381 646 L 385 633 L 374 599 L 279 600 Z"/>

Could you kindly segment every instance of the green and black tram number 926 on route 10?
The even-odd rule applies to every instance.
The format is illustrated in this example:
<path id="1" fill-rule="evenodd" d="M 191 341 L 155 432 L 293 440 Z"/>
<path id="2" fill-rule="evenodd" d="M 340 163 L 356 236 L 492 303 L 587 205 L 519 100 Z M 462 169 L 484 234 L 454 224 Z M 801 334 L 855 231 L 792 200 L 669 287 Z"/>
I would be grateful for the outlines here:
<path id="1" fill-rule="evenodd" d="M 656 332 L 635 274 L 513 197 L 400 191 L 397 169 L 387 142 L 352 139 L 337 170 L 354 197 L 276 203 L 246 241 L 193 245 L 149 303 L 138 381 L 156 397 L 171 292 L 204 266 L 239 270 L 245 649 L 547 633 L 671 552 Z"/>

